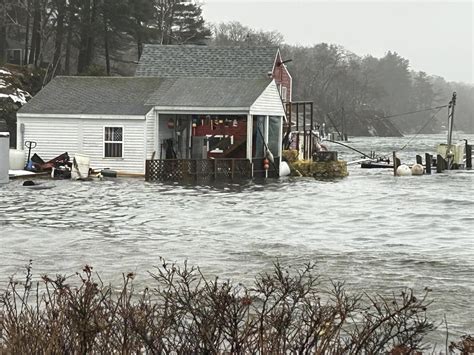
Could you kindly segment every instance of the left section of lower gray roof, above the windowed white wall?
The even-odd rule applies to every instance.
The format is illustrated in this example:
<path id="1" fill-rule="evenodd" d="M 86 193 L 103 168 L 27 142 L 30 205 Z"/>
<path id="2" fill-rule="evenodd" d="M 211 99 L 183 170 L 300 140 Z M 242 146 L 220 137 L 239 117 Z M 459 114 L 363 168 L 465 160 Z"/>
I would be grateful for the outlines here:
<path id="1" fill-rule="evenodd" d="M 19 113 L 144 115 L 156 78 L 58 76 Z"/>

